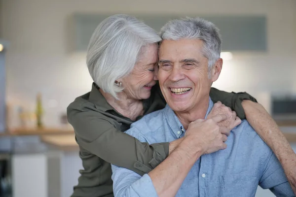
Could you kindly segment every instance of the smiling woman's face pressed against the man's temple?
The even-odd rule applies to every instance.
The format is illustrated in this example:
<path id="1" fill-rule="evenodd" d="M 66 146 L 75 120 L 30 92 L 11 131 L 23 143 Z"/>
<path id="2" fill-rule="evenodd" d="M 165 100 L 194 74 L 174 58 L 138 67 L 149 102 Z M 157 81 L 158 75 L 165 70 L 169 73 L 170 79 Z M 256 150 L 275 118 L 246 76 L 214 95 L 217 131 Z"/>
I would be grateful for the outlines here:
<path id="1" fill-rule="evenodd" d="M 141 100 L 150 97 L 151 88 L 156 84 L 154 67 L 158 61 L 157 50 L 157 44 L 144 47 L 132 73 L 121 80 L 127 99 Z"/>

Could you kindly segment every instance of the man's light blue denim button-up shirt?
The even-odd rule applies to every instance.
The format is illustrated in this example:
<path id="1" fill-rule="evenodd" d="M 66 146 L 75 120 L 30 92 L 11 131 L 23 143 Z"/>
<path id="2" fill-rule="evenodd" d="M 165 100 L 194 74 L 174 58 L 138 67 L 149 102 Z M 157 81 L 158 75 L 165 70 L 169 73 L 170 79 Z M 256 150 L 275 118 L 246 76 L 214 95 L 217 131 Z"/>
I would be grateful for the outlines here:
<path id="1" fill-rule="evenodd" d="M 212 107 L 210 99 L 206 116 Z M 176 140 L 185 130 L 166 105 L 133 123 L 126 133 L 152 144 Z M 246 120 L 230 132 L 226 144 L 225 150 L 198 159 L 177 197 L 254 197 L 258 185 L 276 196 L 294 197 L 281 164 Z M 141 177 L 112 165 L 112 180 L 115 197 L 157 197 L 148 174 Z"/>

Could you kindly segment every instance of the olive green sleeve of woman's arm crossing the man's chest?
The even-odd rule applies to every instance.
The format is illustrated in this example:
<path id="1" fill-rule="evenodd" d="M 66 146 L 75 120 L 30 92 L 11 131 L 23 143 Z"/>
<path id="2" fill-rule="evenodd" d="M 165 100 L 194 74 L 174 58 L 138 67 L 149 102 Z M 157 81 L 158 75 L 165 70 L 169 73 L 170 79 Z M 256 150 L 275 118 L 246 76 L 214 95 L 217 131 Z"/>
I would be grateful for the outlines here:
<path id="1" fill-rule="evenodd" d="M 140 175 L 148 173 L 169 154 L 168 142 L 142 143 L 117 130 L 100 112 L 68 107 L 67 116 L 79 146 L 111 164 Z"/>

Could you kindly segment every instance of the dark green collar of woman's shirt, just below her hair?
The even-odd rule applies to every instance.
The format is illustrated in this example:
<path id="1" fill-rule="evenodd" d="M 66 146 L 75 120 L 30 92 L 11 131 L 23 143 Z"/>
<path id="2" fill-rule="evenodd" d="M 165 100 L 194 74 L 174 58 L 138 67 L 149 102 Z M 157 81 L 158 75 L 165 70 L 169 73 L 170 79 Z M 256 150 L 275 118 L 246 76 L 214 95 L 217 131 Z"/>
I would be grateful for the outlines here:
<path id="1" fill-rule="evenodd" d="M 89 101 L 96 105 L 96 108 L 100 108 L 102 111 L 114 110 L 114 108 L 107 102 L 105 97 L 99 91 L 100 88 L 93 83 L 89 95 Z"/>

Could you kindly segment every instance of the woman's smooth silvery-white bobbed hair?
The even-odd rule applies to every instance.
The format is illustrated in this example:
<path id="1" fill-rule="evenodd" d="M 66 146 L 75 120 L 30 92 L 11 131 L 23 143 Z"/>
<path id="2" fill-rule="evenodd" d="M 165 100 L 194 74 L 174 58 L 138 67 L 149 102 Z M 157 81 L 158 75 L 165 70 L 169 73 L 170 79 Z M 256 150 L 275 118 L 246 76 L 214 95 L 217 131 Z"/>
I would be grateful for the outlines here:
<path id="1" fill-rule="evenodd" d="M 86 64 L 93 81 L 118 99 L 117 93 L 123 88 L 114 82 L 131 73 L 144 46 L 159 41 L 157 32 L 133 16 L 106 18 L 92 34 L 87 48 Z"/>

